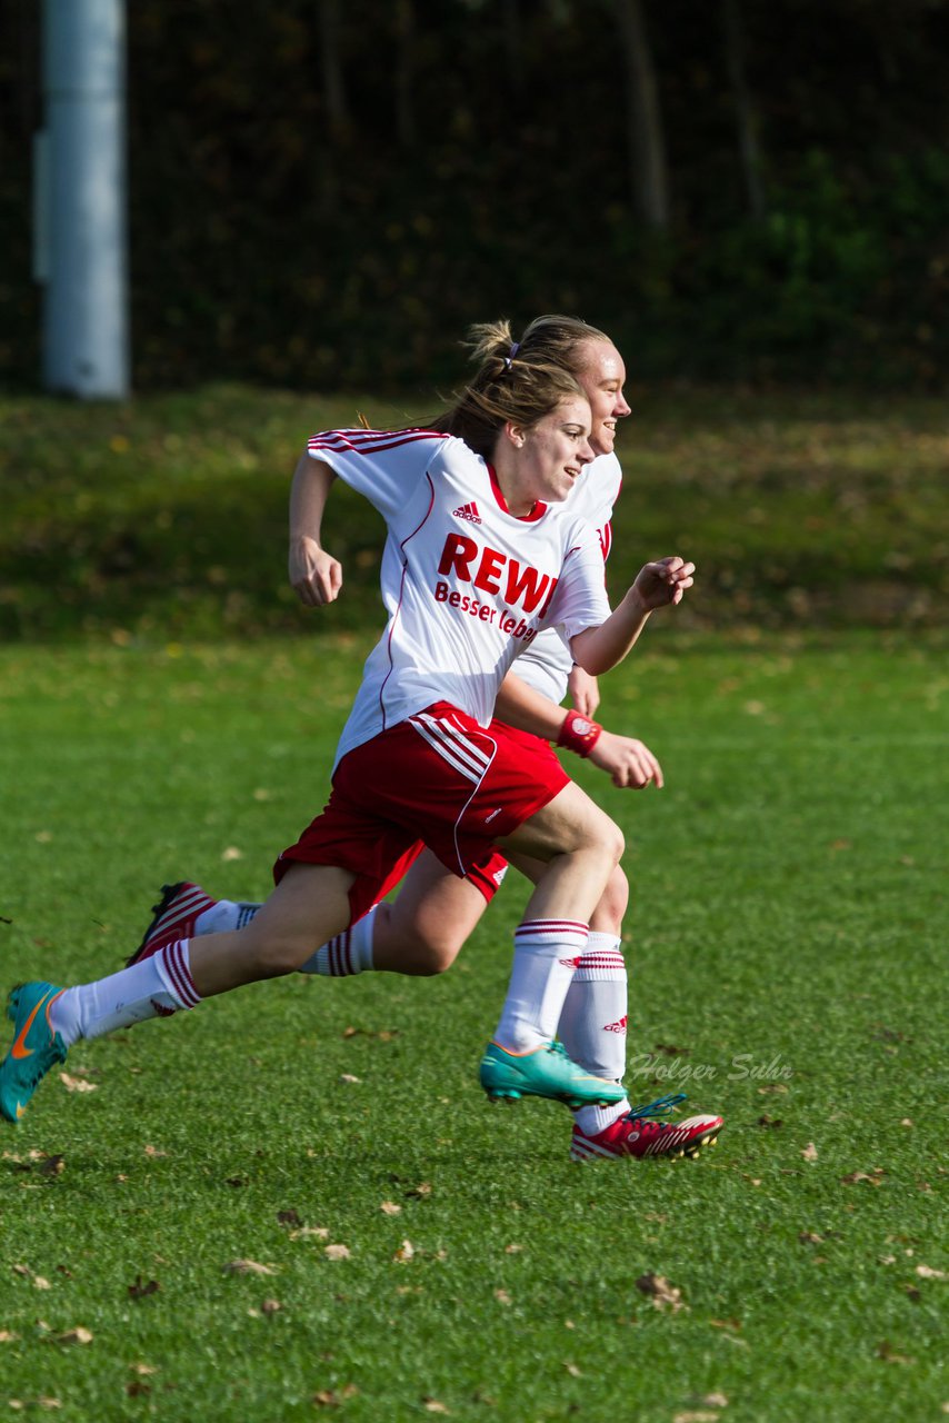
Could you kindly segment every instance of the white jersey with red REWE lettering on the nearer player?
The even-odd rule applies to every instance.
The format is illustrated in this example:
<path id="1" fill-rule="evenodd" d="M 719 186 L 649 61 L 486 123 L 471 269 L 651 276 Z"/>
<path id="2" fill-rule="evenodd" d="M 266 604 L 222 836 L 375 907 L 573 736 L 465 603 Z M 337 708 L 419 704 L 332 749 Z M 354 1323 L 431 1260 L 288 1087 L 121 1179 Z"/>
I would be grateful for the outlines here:
<path id="1" fill-rule="evenodd" d="M 595 528 L 568 504 L 515 518 L 494 471 L 461 440 L 330 430 L 307 451 L 388 525 L 388 623 L 366 660 L 337 761 L 433 702 L 487 726 L 505 673 L 542 628 L 569 639 L 609 616 Z"/>

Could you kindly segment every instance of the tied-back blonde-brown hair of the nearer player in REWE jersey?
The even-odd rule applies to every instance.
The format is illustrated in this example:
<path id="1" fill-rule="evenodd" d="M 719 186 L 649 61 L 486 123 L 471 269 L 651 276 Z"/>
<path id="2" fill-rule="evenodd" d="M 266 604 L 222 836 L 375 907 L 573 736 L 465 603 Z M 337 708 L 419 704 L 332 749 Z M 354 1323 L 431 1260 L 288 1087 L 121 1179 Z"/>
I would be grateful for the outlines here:
<path id="1" fill-rule="evenodd" d="M 528 332 L 536 324 L 532 322 Z M 507 320 L 470 327 L 464 344 L 478 370 L 435 428 L 458 435 L 485 458 L 508 421 L 529 428 L 562 400 L 586 398 L 566 361 L 552 359 L 544 340 L 528 342 L 526 332 L 522 342 L 515 342 Z"/>

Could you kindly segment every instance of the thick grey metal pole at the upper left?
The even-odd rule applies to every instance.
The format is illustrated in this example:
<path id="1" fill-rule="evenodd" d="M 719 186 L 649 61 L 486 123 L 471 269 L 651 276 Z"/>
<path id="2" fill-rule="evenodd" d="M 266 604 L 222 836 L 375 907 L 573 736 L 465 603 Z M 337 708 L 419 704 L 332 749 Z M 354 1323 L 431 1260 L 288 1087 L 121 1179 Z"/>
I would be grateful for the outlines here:
<path id="1" fill-rule="evenodd" d="M 129 390 L 124 0 L 44 0 L 37 276 L 47 390 Z"/>

